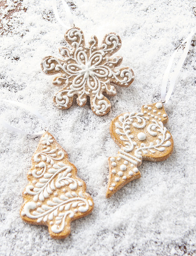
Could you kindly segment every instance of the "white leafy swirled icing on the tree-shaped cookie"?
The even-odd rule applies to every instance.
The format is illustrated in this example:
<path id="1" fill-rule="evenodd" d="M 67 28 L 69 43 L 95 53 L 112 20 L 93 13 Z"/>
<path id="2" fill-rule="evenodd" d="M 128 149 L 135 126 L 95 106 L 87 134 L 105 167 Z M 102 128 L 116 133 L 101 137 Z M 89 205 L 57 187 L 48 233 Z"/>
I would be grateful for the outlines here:
<path id="1" fill-rule="evenodd" d="M 54 142 L 49 133 L 42 136 L 39 145 L 42 145 L 43 141 L 47 145 Z M 75 171 L 72 165 L 60 161 L 64 161 L 64 153 L 59 148 L 54 149 L 53 145 L 45 148 L 42 145 L 38 150 L 40 152 L 34 155 L 34 160 L 39 164 L 35 165 L 35 170 L 32 171 L 32 183 L 25 190 L 32 200 L 25 201 L 21 214 L 32 219 L 32 222 L 48 223 L 52 232 L 60 233 L 67 225 L 66 217 L 73 218 L 78 211 L 86 215 L 93 205 L 93 200 L 89 196 L 88 200 L 86 199 L 84 188 L 80 188 L 81 181 L 74 177 Z M 48 154 L 48 157 L 43 158 L 43 152 Z M 51 158 L 57 159 L 52 165 Z M 61 187 L 63 187 L 62 191 L 67 190 L 67 193 L 58 193 Z M 78 188 L 77 193 L 74 191 L 76 188 Z M 45 198 L 47 200 L 44 201 Z"/>

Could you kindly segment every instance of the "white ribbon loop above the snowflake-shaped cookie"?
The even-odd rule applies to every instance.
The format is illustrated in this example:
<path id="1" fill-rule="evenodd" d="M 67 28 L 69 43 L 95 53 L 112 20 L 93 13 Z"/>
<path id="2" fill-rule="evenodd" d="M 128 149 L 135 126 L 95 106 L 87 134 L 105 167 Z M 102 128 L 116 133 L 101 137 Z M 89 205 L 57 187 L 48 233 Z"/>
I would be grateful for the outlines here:
<path id="1" fill-rule="evenodd" d="M 67 17 L 67 19 L 69 20 L 70 26 L 73 27 L 74 25 L 74 20 L 73 20 L 73 16 L 71 14 L 71 10 L 68 6 L 68 4 L 64 1 L 61 0 L 64 10 L 65 10 L 65 15 Z M 58 20 L 58 22 L 61 24 L 61 26 L 65 27 L 67 29 L 67 25 L 64 23 L 64 21 L 61 20 L 59 14 L 58 14 L 58 9 L 57 9 L 57 0 L 52 0 L 52 7 L 56 16 L 56 19 Z"/>

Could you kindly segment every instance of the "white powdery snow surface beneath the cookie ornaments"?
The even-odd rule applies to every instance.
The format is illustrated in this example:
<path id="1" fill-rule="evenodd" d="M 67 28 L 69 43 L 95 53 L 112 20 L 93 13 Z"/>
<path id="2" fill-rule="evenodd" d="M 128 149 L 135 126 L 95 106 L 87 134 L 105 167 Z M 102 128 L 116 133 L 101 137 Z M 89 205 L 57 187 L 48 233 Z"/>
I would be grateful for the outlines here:
<path id="1" fill-rule="evenodd" d="M 23 0 L 19 12 L 3 20 L 0 38 L 0 97 L 36 106 L 50 123 L 49 131 L 68 152 L 93 197 L 93 212 L 71 224 L 71 235 L 53 240 L 46 226 L 24 223 L 19 216 L 26 174 L 39 136 L 19 135 L 0 127 L 0 255 L 196 255 L 196 47 L 190 47 L 170 102 L 167 124 L 175 142 L 167 161 L 144 161 L 141 178 L 106 199 L 109 156 L 117 145 L 109 135 L 112 118 L 139 111 L 160 97 L 167 62 L 196 23 L 195 0 L 74 0 L 74 22 L 86 41 L 99 42 L 108 32 L 121 36 L 122 66 L 135 81 L 117 87 L 109 97 L 109 114 L 99 117 L 89 102 L 68 110 L 53 105 L 58 88 L 40 67 L 43 57 L 59 56 L 64 28 L 55 19 L 51 1 Z M 14 8 L 7 1 L 3 14 Z M 27 8 L 24 12 L 23 7 Z M 2 12 L 2 11 L 1 11 Z M 67 26 L 68 28 L 68 26 Z M 194 44 L 195 42 L 193 42 Z M 42 122 L 27 112 L 0 106 L 2 116 L 32 130 Z M 23 253 L 23 254 L 22 254 Z"/>

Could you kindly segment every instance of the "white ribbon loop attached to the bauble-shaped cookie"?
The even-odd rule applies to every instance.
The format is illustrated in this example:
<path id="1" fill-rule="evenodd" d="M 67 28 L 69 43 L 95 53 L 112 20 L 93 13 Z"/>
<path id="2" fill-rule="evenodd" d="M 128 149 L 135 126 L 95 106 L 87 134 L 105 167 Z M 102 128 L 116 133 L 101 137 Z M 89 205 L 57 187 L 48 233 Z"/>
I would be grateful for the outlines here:
<path id="1" fill-rule="evenodd" d="M 186 43 L 186 46 L 183 50 L 183 54 L 182 54 L 179 62 L 177 63 L 176 69 L 174 70 L 173 75 L 170 79 L 169 89 L 168 89 L 168 92 L 166 93 L 167 81 L 169 79 L 170 69 L 171 69 L 171 66 L 174 62 L 174 58 L 175 58 L 178 50 L 180 49 L 180 46 L 178 46 L 178 48 L 174 51 L 174 53 L 172 54 L 172 56 L 169 60 L 169 63 L 167 65 L 167 68 L 166 68 L 166 70 L 164 72 L 164 75 L 163 75 L 163 82 L 162 82 L 162 86 L 161 86 L 161 102 L 163 102 L 163 103 L 167 103 L 170 99 L 170 96 L 171 96 L 171 94 L 174 90 L 174 85 L 176 83 L 177 76 L 179 75 L 180 69 L 183 66 L 183 63 L 184 63 L 184 61 L 186 59 L 186 56 L 189 52 L 190 44 L 191 44 L 191 41 L 192 41 L 194 35 L 195 35 L 195 30 L 192 31 L 189 34 L 189 36 L 186 39 L 184 39 L 184 41 L 180 44 L 180 46 L 182 46 L 184 43 Z"/>

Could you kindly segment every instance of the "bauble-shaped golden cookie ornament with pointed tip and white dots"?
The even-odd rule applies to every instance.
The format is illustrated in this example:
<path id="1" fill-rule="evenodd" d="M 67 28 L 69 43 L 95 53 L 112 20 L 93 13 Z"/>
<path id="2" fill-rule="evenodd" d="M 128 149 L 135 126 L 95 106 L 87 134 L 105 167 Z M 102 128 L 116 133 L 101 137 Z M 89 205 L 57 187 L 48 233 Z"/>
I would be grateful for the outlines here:
<path id="1" fill-rule="evenodd" d="M 173 152 L 174 141 L 164 127 L 168 116 L 161 102 L 145 105 L 141 113 L 124 113 L 114 118 L 110 135 L 119 145 L 116 157 L 110 157 L 106 197 L 125 184 L 141 177 L 142 160 L 164 161 Z"/>

